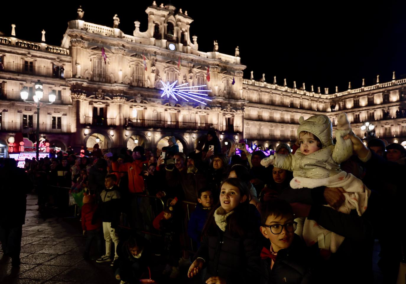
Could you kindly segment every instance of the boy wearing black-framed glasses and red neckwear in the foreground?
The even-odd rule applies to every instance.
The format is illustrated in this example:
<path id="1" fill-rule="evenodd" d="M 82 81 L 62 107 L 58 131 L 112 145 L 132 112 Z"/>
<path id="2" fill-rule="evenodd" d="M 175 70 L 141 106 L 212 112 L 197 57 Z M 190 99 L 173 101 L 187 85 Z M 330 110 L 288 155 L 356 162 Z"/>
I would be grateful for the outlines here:
<path id="1" fill-rule="evenodd" d="M 261 251 L 261 284 L 311 283 L 311 257 L 294 232 L 292 207 L 285 200 L 271 199 L 261 214 L 261 233 L 270 241 Z"/>

